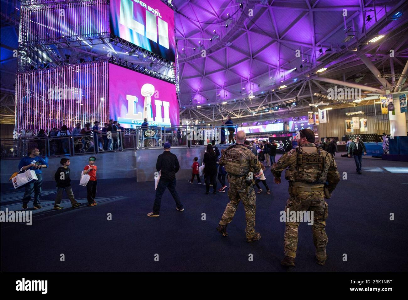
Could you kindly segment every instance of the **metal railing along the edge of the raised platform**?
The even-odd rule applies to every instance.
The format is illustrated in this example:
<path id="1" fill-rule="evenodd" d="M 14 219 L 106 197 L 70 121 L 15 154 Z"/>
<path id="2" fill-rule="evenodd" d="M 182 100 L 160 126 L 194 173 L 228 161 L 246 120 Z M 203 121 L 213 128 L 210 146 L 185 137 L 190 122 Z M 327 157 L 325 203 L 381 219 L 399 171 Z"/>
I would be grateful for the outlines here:
<path id="1" fill-rule="evenodd" d="M 28 149 L 31 147 L 41 148 L 42 155 L 46 157 L 78 156 L 138 149 L 162 149 L 165 142 L 169 142 L 171 147 L 200 147 L 212 142 L 215 142 L 215 144 L 228 142 L 227 132 L 225 132 L 225 140 L 221 141 L 220 133 L 222 128 L 225 131 L 228 131 L 228 128 L 237 131 L 237 125 L 202 126 L 194 124 L 137 127 L 125 129 L 124 131 L 101 133 L 91 131 L 90 133 L 75 136 L 72 133 L 69 136 L 17 136 L 15 139 L 1 139 L 0 153 L 2 159 L 15 159 L 26 156 Z M 88 139 L 85 140 L 84 138 Z M 103 144 L 102 148 L 100 147 L 101 144 Z"/>

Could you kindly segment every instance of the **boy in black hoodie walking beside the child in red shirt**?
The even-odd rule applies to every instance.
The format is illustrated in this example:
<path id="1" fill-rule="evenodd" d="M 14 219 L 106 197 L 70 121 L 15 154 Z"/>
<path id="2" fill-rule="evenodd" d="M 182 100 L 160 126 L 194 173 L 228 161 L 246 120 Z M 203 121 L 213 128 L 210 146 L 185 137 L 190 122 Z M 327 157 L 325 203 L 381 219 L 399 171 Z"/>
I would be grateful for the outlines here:
<path id="1" fill-rule="evenodd" d="M 57 197 L 55 198 L 54 208 L 53 209 L 62 209 L 63 207 L 61 204 L 62 199 L 62 192 L 65 190 L 67 193 L 69 200 L 71 201 L 72 207 L 78 207 L 81 203 L 78 203 L 75 200 L 74 194 L 71 188 L 71 178 L 69 178 L 69 173 L 71 170 L 69 169 L 69 165 L 71 162 L 68 158 L 61 158 L 60 163 L 62 167 L 59 167 L 55 172 L 54 178 L 55 182 L 57 182 Z"/>

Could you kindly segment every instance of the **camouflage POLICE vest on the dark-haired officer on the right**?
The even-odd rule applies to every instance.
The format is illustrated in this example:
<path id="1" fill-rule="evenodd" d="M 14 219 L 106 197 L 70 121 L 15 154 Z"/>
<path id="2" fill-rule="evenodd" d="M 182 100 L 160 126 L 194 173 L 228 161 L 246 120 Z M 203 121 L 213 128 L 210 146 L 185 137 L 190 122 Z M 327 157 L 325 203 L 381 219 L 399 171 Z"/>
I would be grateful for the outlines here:
<path id="1" fill-rule="evenodd" d="M 307 153 L 296 147 L 296 170 L 287 169 L 286 180 L 308 184 L 325 184 L 327 180 L 326 158 L 320 148 L 316 153 Z"/>

